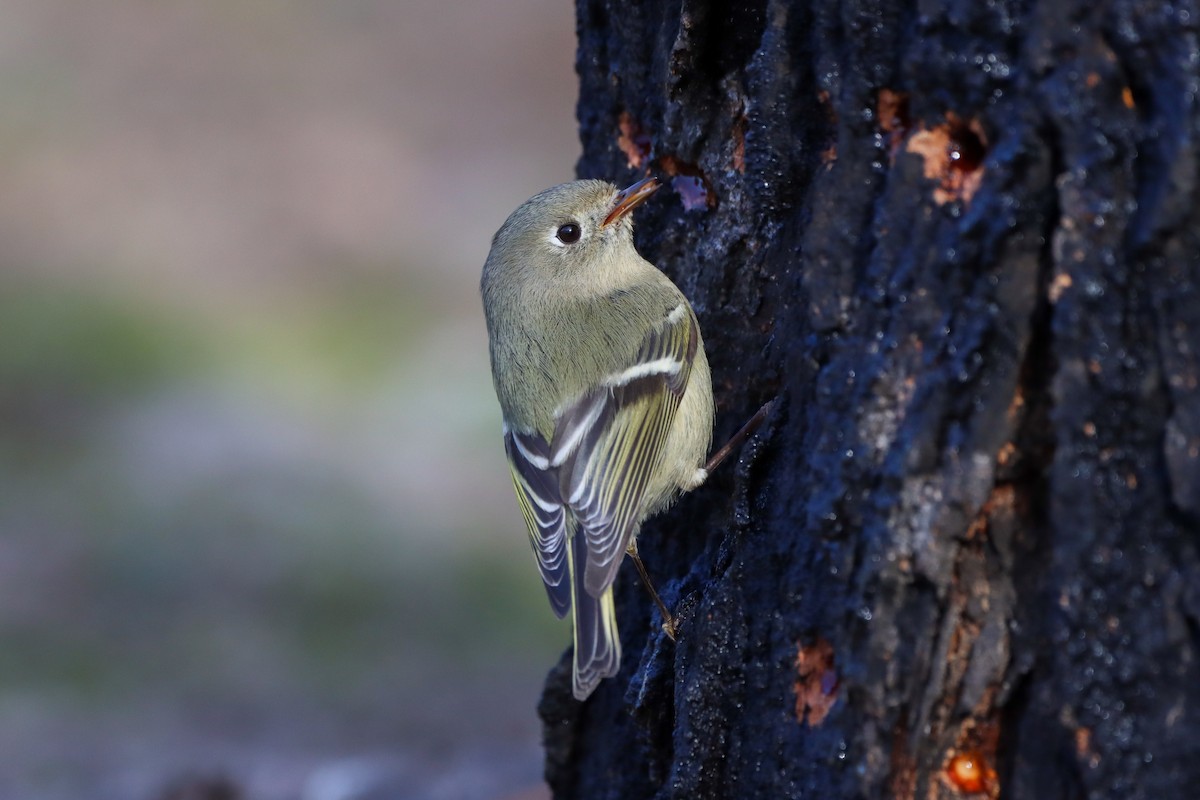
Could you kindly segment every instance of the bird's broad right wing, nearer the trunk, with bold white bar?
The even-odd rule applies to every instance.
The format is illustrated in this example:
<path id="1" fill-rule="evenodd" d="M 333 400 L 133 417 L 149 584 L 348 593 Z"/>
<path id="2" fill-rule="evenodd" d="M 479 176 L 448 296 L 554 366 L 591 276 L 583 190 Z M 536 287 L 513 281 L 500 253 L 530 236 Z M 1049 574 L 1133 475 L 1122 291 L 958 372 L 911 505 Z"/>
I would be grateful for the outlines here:
<path id="1" fill-rule="evenodd" d="M 587 537 L 584 588 L 593 597 L 612 585 L 641 522 L 698 343 L 695 317 L 680 303 L 646 336 L 626 367 L 558 417 L 548 461 L 551 469 L 559 468 L 559 497 Z"/>

